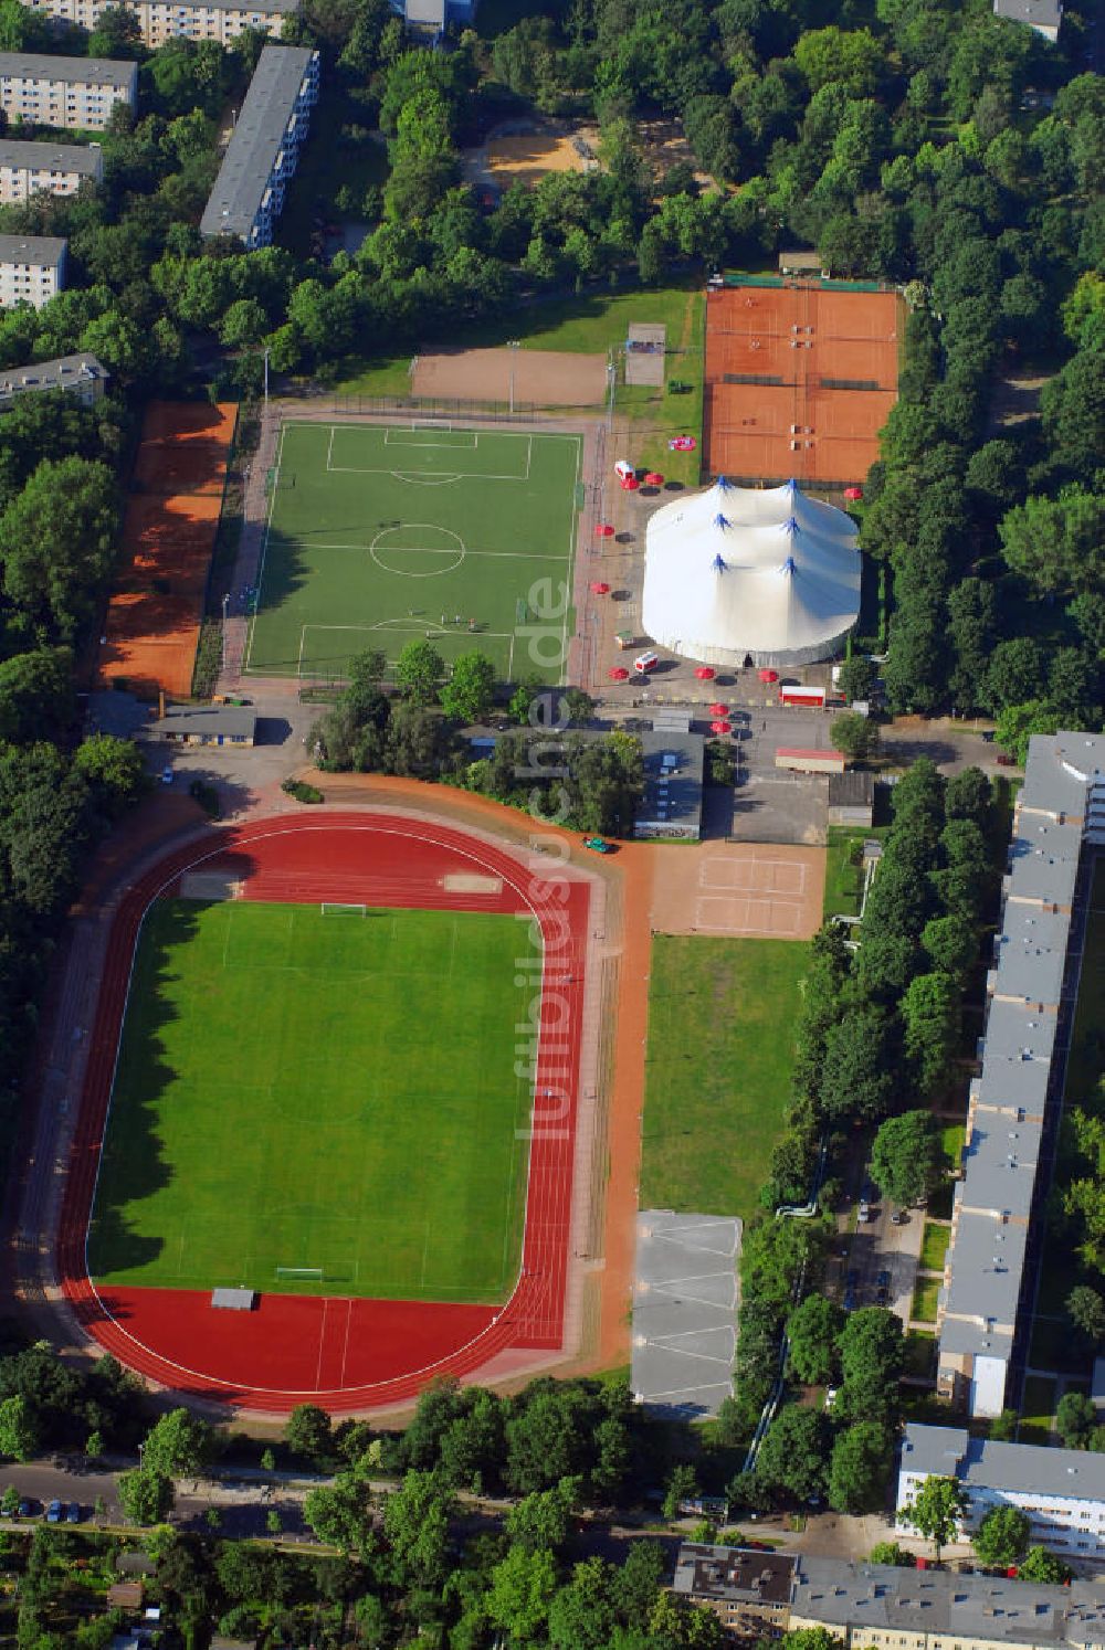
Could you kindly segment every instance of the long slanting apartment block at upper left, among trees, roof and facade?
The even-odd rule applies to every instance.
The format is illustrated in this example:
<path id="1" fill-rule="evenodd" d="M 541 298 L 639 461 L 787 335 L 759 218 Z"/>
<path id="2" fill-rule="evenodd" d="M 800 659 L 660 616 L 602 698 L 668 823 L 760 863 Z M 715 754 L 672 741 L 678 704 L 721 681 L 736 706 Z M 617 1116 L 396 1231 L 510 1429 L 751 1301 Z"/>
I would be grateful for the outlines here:
<path id="1" fill-rule="evenodd" d="M 238 116 L 200 234 L 269 246 L 319 97 L 319 53 L 266 46 Z"/>

